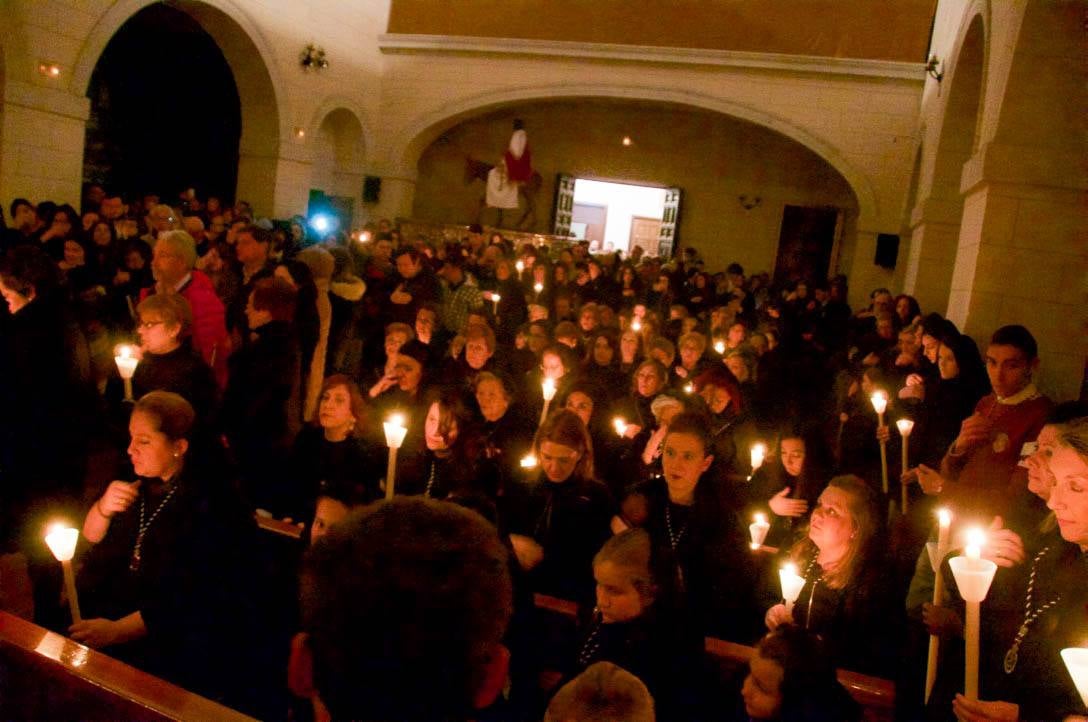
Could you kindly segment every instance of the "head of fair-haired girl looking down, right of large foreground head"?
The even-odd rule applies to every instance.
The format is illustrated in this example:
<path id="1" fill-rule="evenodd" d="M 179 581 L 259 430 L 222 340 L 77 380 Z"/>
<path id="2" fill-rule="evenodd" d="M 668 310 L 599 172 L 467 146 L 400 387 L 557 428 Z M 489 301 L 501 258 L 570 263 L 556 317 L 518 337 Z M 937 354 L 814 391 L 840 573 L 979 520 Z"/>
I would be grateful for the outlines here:
<path id="1" fill-rule="evenodd" d="M 630 622 L 654 603 L 658 588 L 650 535 L 632 528 L 611 537 L 593 558 L 597 609 L 605 624 Z"/>

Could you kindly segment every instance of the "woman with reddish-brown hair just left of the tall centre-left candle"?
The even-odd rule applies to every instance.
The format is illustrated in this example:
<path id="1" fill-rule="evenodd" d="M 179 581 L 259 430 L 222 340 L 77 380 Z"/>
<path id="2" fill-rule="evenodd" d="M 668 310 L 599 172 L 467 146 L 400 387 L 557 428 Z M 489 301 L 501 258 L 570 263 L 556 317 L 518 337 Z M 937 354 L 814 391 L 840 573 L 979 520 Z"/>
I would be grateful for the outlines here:
<path id="1" fill-rule="evenodd" d="M 287 513 L 295 520 L 309 516 L 322 484 L 345 489 L 369 502 L 379 498 L 379 471 L 385 449 L 366 435 L 368 413 L 358 385 L 344 375 L 325 378 L 321 386 L 316 423 L 295 437 L 290 453 L 294 494 Z"/>

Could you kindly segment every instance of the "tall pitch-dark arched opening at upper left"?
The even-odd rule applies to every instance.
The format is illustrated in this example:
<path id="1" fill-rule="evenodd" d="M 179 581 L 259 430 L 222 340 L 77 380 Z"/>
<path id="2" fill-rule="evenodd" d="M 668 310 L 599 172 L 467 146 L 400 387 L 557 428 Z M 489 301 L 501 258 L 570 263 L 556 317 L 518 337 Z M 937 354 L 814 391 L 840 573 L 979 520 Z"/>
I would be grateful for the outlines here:
<path id="1" fill-rule="evenodd" d="M 90 78 L 84 180 L 172 202 L 194 187 L 234 199 L 242 115 L 231 69 L 188 14 L 149 5 L 110 39 Z"/>

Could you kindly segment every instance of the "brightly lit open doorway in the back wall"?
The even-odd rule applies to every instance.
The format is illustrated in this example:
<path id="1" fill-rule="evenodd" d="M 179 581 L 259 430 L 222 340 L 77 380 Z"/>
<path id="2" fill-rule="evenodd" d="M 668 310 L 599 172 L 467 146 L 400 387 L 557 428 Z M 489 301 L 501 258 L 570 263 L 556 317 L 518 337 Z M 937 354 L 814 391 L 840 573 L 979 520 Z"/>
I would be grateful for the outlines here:
<path id="1" fill-rule="evenodd" d="M 592 252 L 629 253 L 642 246 L 656 256 L 668 188 L 574 179 L 570 235 L 590 241 Z"/>

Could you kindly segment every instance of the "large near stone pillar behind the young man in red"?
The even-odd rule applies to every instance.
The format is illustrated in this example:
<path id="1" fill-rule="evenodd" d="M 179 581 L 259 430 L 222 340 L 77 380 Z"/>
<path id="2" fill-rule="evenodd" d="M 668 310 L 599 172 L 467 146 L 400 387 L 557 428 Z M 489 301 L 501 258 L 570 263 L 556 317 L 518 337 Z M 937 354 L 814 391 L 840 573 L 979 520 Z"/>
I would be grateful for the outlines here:
<path id="1" fill-rule="evenodd" d="M 1088 189 L 1060 187 L 1046 164 L 1021 167 L 1027 152 L 989 146 L 964 166 L 948 315 L 980 349 L 999 326 L 1027 326 L 1040 388 L 1071 399 L 1088 354 Z"/>

